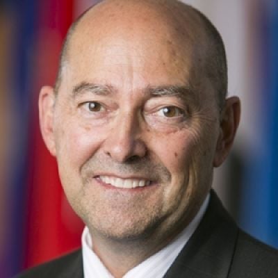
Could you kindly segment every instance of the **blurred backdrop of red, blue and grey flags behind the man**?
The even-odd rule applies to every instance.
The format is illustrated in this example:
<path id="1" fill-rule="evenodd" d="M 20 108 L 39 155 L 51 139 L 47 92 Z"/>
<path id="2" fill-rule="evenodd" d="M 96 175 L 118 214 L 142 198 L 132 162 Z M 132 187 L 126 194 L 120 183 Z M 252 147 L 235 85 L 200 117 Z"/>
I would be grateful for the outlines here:
<path id="1" fill-rule="evenodd" d="M 38 128 L 38 92 L 53 85 L 63 38 L 92 0 L 0 1 L 0 277 L 80 245 Z M 242 121 L 213 187 L 240 227 L 278 247 L 278 1 L 188 0 L 227 48 L 229 95 Z"/>

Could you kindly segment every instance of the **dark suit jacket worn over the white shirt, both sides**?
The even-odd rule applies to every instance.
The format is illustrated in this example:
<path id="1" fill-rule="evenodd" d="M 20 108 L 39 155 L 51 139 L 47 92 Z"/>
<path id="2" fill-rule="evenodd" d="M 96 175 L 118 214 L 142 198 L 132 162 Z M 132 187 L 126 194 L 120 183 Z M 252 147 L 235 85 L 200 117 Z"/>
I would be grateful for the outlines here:
<path id="1" fill-rule="evenodd" d="M 35 277 L 83 278 L 81 250 L 17 276 Z M 165 275 L 181 277 L 278 278 L 278 251 L 238 229 L 212 192 L 199 227 Z"/>

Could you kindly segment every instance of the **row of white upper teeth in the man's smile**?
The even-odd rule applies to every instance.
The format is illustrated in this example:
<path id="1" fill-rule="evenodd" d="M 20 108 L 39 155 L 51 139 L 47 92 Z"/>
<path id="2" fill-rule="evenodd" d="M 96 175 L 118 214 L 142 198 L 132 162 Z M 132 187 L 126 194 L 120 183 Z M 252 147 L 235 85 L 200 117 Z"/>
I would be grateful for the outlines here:
<path id="1" fill-rule="evenodd" d="M 118 188 L 136 188 L 149 186 L 151 181 L 145 181 L 143 179 L 121 179 L 108 176 L 99 176 L 99 179 L 104 183 L 111 184 Z"/>

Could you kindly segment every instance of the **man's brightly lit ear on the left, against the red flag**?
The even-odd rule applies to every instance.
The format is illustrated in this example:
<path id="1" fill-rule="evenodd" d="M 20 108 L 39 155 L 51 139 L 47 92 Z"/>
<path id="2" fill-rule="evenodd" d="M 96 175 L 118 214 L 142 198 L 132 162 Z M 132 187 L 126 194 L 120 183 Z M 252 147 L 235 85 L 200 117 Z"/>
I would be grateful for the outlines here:
<path id="1" fill-rule="evenodd" d="M 49 152 L 55 156 L 56 147 L 54 140 L 54 106 L 56 96 L 54 89 L 50 86 L 44 86 L 40 90 L 39 113 L 40 113 L 40 131 L 42 138 Z"/>

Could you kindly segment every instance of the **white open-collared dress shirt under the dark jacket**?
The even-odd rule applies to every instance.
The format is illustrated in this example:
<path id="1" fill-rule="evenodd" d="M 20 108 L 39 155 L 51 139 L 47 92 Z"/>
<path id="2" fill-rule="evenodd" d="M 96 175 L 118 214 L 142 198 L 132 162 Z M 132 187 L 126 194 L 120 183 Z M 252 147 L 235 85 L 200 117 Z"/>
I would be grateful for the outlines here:
<path id="1" fill-rule="evenodd" d="M 193 221 L 190 222 L 172 243 L 150 256 L 147 260 L 142 261 L 139 265 L 136 265 L 135 268 L 126 272 L 122 278 L 162 278 L 202 220 L 208 206 L 208 200 L 209 195 L 206 197 Z M 113 275 L 111 275 L 92 250 L 93 244 L 88 227 L 85 227 L 83 231 L 81 242 L 84 278 L 113 278 Z"/>

